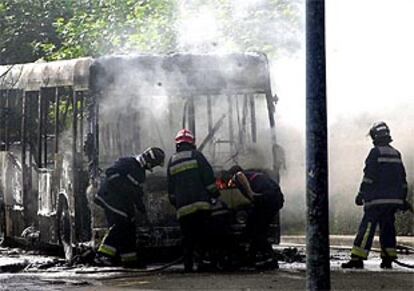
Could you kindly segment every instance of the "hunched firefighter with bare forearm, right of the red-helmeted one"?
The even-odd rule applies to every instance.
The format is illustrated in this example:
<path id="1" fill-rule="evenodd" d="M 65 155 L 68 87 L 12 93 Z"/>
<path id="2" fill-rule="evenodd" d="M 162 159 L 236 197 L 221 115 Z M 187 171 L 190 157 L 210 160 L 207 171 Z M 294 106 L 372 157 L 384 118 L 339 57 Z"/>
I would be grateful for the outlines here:
<path id="1" fill-rule="evenodd" d="M 261 171 L 245 171 L 237 165 L 229 173 L 232 175 L 231 181 L 253 204 L 246 225 L 251 263 L 257 268 L 277 269 L 279 266 L 267 236 L 270 223 L 284 204 L 279 184 Z"/>

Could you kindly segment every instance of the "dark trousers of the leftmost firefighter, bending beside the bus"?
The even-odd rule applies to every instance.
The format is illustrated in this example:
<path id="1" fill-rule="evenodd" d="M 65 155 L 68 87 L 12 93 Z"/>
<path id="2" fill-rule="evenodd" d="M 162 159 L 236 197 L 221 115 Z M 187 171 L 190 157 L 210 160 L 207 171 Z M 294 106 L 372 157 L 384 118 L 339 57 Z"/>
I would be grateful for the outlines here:
<path id="1" fill-rule="evenodd" d="M 137 261 L 135 222 L 105 208 L 109 230 L 103 238 L 98 253 L 111 257 L 122 265 Z"/>

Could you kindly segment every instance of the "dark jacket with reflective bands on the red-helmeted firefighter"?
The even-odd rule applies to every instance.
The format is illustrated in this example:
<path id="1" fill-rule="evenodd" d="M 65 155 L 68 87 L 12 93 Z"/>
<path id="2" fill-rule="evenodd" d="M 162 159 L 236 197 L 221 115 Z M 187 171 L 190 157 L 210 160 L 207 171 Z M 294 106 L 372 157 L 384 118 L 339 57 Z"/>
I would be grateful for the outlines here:
<path id="1" fill-rule="evenodd" d="M 167 178 L 168 195 L 177 209 L 177 218 L 210 210 L 211 198 L 219 196 L 213 169 L 195 149 L 178 151 L 170 158 Z"/>

